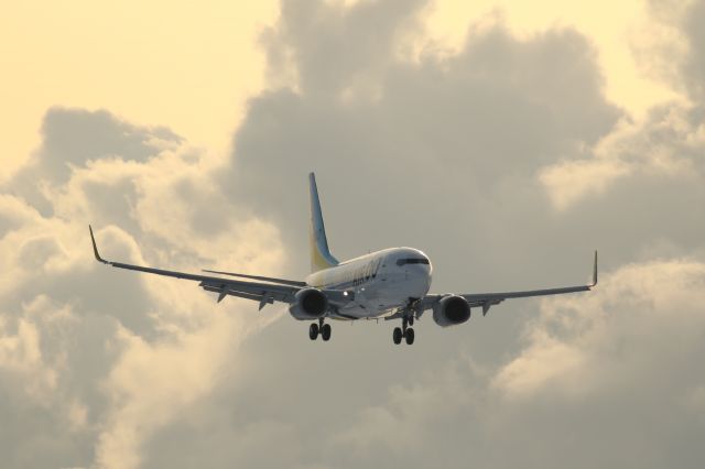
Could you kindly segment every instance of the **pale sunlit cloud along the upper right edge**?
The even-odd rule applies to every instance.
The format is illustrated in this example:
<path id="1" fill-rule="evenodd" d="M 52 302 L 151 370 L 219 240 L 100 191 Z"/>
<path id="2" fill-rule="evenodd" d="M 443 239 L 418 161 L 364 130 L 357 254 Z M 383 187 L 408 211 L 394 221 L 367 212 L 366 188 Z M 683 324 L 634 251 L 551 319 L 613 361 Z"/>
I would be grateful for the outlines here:
<path id="1" fill-rule="evenodd" d="M 705 2 L 652 1 L 649 8 L 653 37 L 637 50 L 643 52 L 641 61 L 658 76 L 683 90 L 685 99 L 657 106 L 639 121 L 622 119 L 612 132 L 586 149 L 586 154 L 542 168 L 539 179 L 558 209 L 584 198 L 608 196 L 627 178 L 703 185 L 705 41 L 697 25 L 705 18 Z"/>

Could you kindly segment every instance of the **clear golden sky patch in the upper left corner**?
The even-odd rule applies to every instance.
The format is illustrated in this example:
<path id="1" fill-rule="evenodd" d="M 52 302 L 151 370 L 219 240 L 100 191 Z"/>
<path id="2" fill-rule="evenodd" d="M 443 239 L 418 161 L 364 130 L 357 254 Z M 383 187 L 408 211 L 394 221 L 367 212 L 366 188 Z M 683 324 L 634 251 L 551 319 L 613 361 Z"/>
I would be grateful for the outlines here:
<path id="1" fill-rule="evenodd" d="M 223 149 L 262 84 L 258 31 L 275 2 L 9 2 L 0 15 L 3 165 L 39 143 L 51 106 L 105 108 Z"/>

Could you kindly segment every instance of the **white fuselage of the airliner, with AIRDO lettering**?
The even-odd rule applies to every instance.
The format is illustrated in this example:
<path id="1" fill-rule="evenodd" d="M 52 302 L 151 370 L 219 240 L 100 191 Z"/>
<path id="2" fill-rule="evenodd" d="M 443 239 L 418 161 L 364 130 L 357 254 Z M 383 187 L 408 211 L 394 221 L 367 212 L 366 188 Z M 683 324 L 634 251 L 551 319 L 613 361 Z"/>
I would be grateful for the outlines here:
<path id="1" fill-rule="evenodd" d="M 391 248 L 314 272 L 306 284 L 316 288 L 352 292 L 355 301 L 333 318 L 381 316 L 423 298 L 431 287 L 432 265 L 417 249 Z"/>

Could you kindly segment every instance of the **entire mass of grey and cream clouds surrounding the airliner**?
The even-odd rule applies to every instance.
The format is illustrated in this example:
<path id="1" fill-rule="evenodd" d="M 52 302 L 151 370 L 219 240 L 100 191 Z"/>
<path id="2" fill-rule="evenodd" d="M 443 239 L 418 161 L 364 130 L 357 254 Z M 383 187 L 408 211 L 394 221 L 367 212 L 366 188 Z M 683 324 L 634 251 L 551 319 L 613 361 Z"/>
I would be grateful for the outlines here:
<path id="1" fill-rule="evenodd" d="M 164 130 L 50 113 L 0 196 L 9 467 L 699 467 L 702 109 L 627 120 L 565 29 L 492 23 L 406 63 L 421 7 L 288 4 L 268 52 L 299 87 L 252 99 L 227 167 Z M 375 99 L 340 100 L 360 77 Z M 334 247 L 429 247 L 434 291 L 567 282 L 593 244 L 607 274 L 455 330 L 424 317 L 392 348 L 389 324 L 311 342 L 274 308 L 93 260 L 87 222 L 109 259 L 280 274 L 284 246 L 305 255 L 310 170 Z"/>

